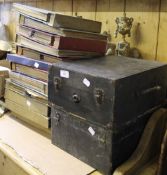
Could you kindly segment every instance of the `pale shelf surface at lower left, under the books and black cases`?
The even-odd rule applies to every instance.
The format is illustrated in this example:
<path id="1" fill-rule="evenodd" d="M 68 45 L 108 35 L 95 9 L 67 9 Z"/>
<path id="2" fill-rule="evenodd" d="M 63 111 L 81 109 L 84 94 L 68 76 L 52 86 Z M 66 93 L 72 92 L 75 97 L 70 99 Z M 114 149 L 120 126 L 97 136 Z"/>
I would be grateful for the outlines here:
<path id="1" fill-rule="evenodd" d="M 100 175 L 10 113 L 0 118 L 0 174 Z"/>

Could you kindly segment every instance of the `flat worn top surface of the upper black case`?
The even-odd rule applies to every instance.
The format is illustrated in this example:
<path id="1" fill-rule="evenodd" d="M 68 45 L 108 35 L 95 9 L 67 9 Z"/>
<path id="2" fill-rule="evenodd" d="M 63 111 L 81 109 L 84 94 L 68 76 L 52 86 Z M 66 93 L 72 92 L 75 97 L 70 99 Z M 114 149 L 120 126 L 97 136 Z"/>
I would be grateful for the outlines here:
<path id="1" fill-rule="evenodd" d="M 153 68 L 166 65 L 158 61 L 149 61 L 120 56 L 105 56 L 89 60 L 63 61 L 56 67 L 67 69 L 96 77 L 112 80 L 125 78 Z"/>

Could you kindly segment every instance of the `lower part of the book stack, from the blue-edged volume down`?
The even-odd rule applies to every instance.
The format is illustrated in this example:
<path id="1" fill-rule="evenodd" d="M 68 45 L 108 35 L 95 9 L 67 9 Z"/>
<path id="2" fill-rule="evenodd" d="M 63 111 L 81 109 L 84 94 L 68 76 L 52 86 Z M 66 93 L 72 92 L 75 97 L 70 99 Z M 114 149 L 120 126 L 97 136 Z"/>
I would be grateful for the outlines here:
<path id="1" fill-rule="evenodd" d="M 6 80 L 5 104 L 31 125 L 49 131 L 48 69 L 50 63 L 8 54 L 12 71 Z"/>

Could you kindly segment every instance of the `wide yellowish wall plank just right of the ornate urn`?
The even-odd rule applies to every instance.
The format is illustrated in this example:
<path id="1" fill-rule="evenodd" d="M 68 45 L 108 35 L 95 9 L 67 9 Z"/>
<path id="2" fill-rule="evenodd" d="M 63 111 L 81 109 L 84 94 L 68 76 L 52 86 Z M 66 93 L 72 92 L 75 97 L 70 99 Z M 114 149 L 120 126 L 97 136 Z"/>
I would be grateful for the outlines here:
<path id="1" fill-rule="evenodd" d="M 159 5 L 157 0 L 128 0 L 126 4 L 127 16 L 134 18 L 132 36 L 128 41 L 141 51 L 143 58 L 156 57 Z"/>

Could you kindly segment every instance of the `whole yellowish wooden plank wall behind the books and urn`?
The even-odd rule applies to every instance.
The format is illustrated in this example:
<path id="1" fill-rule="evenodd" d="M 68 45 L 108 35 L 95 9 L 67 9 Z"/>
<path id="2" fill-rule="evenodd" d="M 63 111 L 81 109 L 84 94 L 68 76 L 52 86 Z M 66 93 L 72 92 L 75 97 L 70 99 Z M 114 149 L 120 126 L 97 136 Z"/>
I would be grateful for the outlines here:
<path id="1" fill-rule="evenodd" d="M 2 0 L 0 0 L 2 2 Z M 7 5 L 0 6 L 0 19 L 9 25 L 11 38 L 15 32 L 15 21 L 11 12 L 11 2 L 19 2 L 35 7 L 62 12 L 67 15 L 103 22 L 102 32 L 112 36 L 112 42 L 121 41 L 121 36 L 114 38 L 115 18 L 123 15 L 126 7 L 128 17 L 134 18 L 131 38 L 127 41 L 141 51 L 143 58 L 167 61 L 167 0 L 5 0 Z M 160 2 L 162 2 L 161 12 Z M 5 7 L 5 8 L 4 8 Z M 11 19 L 9 19 L 11 18 Z"/>

